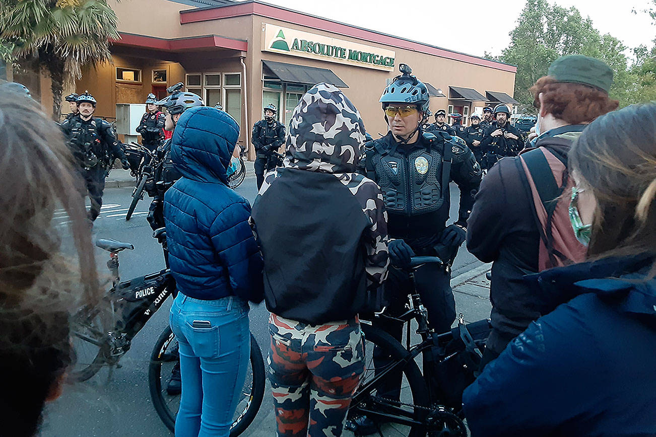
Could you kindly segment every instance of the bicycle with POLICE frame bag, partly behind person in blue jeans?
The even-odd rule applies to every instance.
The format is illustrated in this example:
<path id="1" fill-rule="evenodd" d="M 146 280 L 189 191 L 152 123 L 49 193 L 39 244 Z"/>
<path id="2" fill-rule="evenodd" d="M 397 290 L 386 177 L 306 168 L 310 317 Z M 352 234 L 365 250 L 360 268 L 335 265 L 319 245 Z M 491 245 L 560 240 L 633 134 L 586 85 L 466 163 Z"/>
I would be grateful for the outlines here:
<path id="1" fill-rule="evenodd" d="M 119 252 L 133 250 L 127 242 L 99 239 L 96 246 L 110 252 L 107 267 L 112 275 L 112 288 L 96 305 L 81 308 L 72 317 L 71 337 L 76 359 L 68 378 L 86 381 L 101 368 L 120 368 L 119 361 L 129 351 L 134 336 L 163 305 L 176 286 L 168 268 L 166 231 L 157 229 L 153 235 L 162 245 L 167 268 L 122 281 L 119 276 Z M 177 341 L 167 326 L 155 342 L 150 357 L 148 385 L 157 414 L 174 430 L 180 396 L 169 396 L 162 389 L 178 362 Z M 246 381 L 237 405 L 230 435 L 239 435 L 251 424 L 264 397 L 264 360 L 255 337 L 251 334 L 251 359 Z"/>

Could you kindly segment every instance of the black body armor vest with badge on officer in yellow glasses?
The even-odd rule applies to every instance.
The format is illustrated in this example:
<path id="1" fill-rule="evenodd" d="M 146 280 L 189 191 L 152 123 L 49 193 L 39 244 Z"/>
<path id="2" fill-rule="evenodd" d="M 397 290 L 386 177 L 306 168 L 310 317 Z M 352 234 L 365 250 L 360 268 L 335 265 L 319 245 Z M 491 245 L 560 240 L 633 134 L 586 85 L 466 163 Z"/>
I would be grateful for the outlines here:
<path id="1" fill-rule="evenodd" d="M 371 165 L 375 172 L 369 178 L 375 177 L 378 182 L 388 211 L 418 216 L 434 212 L 444 203 L 443 185 L 449 183 L 451 145 L 443 143 L 447 147 L 435 147 L 438 138 L 430 132 L 424 132 L 420 141 L 428 147 L 409 154 L 400 151 L 403 146 L 396 144 L 391 149 L 380 150 L 375 144 L 380 140 L 367 153 L 368 172 Z M 447 157 L 440 150 L 444 148 L 448 149 Z"/>

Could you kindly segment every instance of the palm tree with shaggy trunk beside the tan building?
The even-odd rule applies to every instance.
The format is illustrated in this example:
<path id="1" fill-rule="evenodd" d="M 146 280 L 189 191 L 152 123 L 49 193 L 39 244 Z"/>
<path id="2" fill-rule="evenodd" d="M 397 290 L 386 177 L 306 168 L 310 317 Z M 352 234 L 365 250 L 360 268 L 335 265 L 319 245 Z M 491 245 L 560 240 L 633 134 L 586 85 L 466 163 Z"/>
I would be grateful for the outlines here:
<path id="1" fill-rule="evenodd" d="M 106 0 L 0 0 L 0 39 L 49 73 L 56 121 L 64 82 L 79 79 L 86 64 L 110 60 L 108 40 L 120 38 L 116 22 Z"/>

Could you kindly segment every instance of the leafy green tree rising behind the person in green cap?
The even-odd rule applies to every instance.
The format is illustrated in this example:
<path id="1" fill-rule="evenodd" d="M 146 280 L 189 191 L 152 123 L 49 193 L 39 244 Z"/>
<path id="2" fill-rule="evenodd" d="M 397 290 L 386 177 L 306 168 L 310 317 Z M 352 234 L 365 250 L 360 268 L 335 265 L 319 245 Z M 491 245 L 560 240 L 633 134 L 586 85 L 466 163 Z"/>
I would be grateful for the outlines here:
<path id="1" fill-rule="evenodd" d="M 628 71 L 625 45 L 612 35 L 601 35 L 592 20 L 583 18 L 575 7 L 565 9 L 547 0 L 527 0 L 510 37 L 510 46 L 497 59 L 517 66 L 515 98 L 519 102 L 532 104 L 529 88 L 546 75 L 554 60 L 584 54 L 604 60 L 613 69 L 611 97 L 621 104 L 630 103 L 633 77 Z"/>

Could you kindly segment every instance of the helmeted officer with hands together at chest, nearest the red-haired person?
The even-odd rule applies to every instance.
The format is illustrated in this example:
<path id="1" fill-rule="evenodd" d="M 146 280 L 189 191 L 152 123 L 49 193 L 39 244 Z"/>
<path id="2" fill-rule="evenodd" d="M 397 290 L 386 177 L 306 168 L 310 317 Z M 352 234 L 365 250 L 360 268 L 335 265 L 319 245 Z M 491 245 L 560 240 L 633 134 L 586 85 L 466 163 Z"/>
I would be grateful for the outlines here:
<path id="1" fill-rule="evenodd" d="M 483 134 L 483 164 L 487 170 L 503 157 L 514 157 L 522 149 L 522 134 L 508 121 L 510 109 L 499 104 L 494 109 L 495 122 Z"/>

